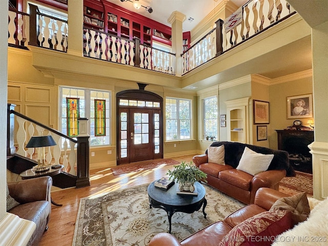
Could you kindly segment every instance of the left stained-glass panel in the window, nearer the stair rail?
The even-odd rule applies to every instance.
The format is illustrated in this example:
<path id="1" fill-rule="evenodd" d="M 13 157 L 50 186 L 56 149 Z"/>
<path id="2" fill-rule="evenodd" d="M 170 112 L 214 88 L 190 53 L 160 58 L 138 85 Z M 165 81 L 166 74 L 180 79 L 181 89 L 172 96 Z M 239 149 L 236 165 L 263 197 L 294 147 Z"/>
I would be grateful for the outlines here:
<path id="1" fill-rule="evenodd" d="M 76 137 L 78 135 L 78 123 L 79 118 L 79 98 L 66 97 L 67 105 L 67 135 L 70 137 Z"/>

